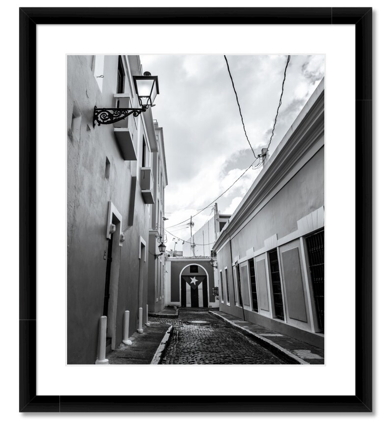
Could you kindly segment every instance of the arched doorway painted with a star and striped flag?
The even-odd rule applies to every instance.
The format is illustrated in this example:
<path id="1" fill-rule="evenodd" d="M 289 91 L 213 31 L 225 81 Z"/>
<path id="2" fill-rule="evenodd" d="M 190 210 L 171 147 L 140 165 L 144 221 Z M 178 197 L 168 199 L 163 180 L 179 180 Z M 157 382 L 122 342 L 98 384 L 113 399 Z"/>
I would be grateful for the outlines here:
<path id="1" fill-rule="evenodd" d="M 208 308 L 208 274 L 204 267 L 187 265 L 179 277 L 181 307 Z"/>

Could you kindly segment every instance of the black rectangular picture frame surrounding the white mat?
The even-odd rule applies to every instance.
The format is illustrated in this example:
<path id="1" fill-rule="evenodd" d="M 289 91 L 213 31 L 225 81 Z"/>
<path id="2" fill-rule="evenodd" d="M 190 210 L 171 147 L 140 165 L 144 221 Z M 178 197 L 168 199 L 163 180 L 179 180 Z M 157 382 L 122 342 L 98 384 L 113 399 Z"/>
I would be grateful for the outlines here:
<path id="1" fill-rule="evenodd" d="M 20 8 L 20 411 L 372 411 L 372 8 Z M 356 33 L 356 388 L 346 396 L 42 396 L 36 393 L 36 25 L 310 24 Z"/>

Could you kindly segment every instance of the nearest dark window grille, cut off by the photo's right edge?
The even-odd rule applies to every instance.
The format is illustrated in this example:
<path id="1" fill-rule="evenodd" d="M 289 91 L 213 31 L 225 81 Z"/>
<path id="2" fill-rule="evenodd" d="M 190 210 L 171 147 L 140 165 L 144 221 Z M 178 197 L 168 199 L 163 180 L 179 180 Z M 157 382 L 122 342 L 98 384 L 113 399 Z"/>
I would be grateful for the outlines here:
<path id="1" fill-rule="evenodd" d="M 324 280 L 325 280 L 325 249 L 324 230 L 316 232 L 306 238 L 307 252 L 309 255 L 309 267 L 313 296 L 317 313 L 318 326 L 324 330 L 325 303 L 324 303 Z"/>

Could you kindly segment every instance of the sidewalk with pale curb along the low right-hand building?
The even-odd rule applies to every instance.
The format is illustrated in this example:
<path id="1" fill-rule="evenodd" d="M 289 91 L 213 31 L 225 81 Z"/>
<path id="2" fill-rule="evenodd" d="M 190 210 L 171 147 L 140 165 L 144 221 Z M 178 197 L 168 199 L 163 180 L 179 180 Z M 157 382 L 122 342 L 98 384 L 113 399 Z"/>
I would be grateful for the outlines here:
<path id="1" fill-rule="evenodd" d="M 209 310 L 209 313 L 229 323 L 246 335 L 257 339 L 264 347 L 282 353 L 298 364 L 325 364 L 324 350 L 306 342 L 282 335 L 279 332 L 266 329 L 251 322 L 238 319 L 236 316 L 219 310 Z"/>

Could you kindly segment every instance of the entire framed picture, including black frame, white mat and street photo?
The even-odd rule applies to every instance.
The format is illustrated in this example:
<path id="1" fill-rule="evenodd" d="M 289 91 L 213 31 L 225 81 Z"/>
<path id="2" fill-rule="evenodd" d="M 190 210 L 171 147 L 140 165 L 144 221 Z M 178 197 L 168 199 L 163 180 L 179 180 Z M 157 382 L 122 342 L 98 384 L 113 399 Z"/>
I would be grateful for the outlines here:
<path id="1" fill-rule="evenodd" d="M 372 411 L 371 8 L 21 8 L 19 72 L 20 412 Z"/>

